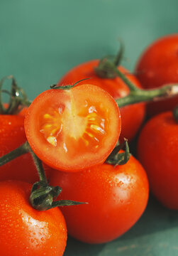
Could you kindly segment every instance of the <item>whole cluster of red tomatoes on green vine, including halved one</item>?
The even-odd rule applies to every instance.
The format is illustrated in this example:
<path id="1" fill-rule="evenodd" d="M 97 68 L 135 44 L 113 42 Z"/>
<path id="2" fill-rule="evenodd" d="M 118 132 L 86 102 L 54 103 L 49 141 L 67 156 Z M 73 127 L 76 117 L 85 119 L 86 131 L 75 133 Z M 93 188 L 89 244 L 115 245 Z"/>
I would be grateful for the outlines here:
<path id="1" fill-rule="evenodd" d="M 63 255 L 67 233 L 88 243 L 119 238 L 143 214 L 149 187 L 178 209 L 177 50 L 177 34 L 160 38 L 135 75 L 118 65 L 121 52 L 90 60 L 33 102 L 8 78 L 11 100 L 0 102 L 3 255 Z"/>

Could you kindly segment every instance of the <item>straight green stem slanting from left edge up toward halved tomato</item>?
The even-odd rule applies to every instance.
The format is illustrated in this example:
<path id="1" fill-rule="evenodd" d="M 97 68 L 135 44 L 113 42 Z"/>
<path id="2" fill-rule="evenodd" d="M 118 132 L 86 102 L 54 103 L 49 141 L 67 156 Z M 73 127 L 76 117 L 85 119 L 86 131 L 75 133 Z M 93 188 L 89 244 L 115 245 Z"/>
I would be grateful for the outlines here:
<path id="1" fill-rule="evenodd" d="M 0 166 L 16 159 L 18 156 L 28 153 L 28 142 L 25 142 L 23 145 L 19 146 L 17 149 L 14 149 L 10 153 L 0 157 Z"/>

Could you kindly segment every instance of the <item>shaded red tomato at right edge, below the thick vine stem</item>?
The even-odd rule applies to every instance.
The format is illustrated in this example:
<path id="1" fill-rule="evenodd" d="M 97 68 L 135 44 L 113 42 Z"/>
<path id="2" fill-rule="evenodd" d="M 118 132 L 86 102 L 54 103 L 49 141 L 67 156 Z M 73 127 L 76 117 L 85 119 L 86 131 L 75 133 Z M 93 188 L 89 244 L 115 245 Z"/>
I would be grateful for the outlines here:
<path id="1" fill-rule="evenodd" d="M 178 210 L 178 124 L 163 112 L 145 124 L 138 139 L 138 159 L 147 171 L 150 189 L 167 208 Z"/>

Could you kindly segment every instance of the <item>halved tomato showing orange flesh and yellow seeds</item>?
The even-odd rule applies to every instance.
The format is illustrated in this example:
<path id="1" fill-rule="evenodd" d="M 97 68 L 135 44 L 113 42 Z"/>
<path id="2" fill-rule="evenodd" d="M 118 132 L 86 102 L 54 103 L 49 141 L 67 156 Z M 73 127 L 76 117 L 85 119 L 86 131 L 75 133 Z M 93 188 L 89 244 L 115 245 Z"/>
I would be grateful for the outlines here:
<path id="1" fill-rule="evenodd" d="M 31 148 L 45 164 L 77 171 L 105 161 L 121 132 L 121 117 L 111 95 L 99 87 L 52 89 L 38 95 L 28 108 L 25 130 Z"/>

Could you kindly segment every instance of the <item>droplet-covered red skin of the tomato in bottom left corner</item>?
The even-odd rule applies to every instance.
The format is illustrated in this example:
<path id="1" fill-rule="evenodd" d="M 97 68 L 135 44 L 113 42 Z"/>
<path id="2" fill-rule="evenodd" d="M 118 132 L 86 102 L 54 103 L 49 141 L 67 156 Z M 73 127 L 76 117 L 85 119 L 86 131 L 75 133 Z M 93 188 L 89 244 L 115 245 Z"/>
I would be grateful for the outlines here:
<path id="1" fill-rule="evenodd" d="M 67 241 L 65 219 L 58 208 L 30 206 L 31 185 L 0 183 L 0 252 L 6 256 L 62 256 Z"/>

